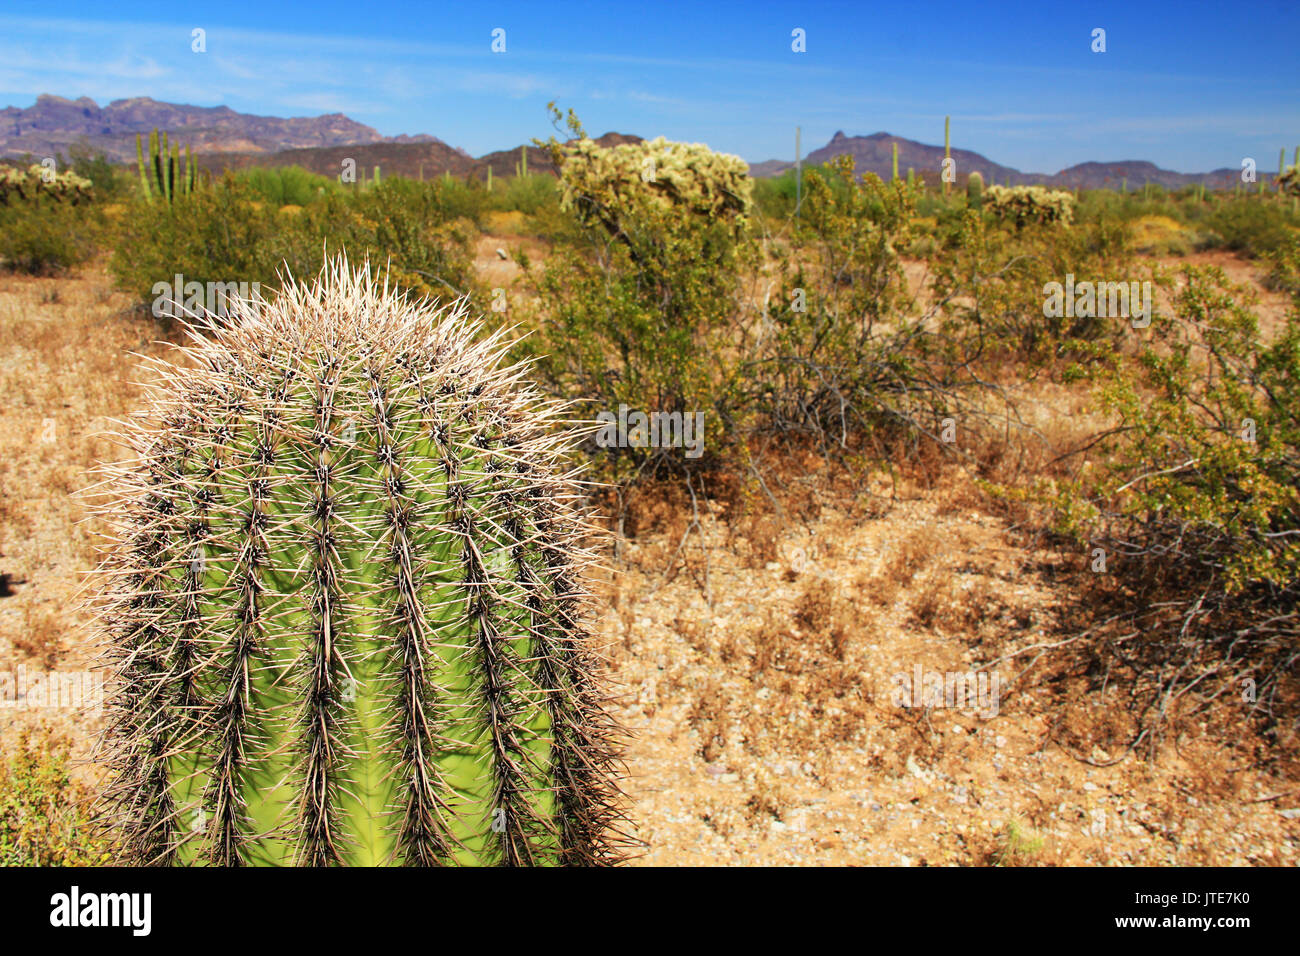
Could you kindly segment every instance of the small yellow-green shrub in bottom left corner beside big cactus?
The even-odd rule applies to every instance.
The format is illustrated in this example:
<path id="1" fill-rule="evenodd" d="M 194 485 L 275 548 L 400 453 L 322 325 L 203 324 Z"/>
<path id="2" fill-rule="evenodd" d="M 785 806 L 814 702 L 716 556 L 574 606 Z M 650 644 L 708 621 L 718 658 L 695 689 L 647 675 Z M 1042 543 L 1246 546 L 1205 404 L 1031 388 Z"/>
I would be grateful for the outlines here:
<path id="1" fill-rule="evenodd" d="M 87 788 L 68 773 L 68 740 L 23 728 L 0 754 L 0 866 L 90 866 L 110 858 Z"/>

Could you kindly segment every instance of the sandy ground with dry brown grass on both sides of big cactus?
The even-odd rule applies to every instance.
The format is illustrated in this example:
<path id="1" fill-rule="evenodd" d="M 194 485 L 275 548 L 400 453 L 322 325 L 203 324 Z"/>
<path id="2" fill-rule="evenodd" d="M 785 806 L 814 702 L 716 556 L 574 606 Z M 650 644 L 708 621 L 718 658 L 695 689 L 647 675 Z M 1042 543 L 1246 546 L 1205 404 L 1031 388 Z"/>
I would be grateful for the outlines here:
<path id="1" fill-rule="evenodd" d="M 489 285 L 515 281 L 519 242 L 481 239 Z M 136 399 L 131 352 L 156 347 L 110 289 L 99 265 L 0 277 L 0 667 L 91 666 L 74 596 L 94 527 L 73 492 L 113 455 L 96 433 Z M 1300 784 L 1251 760 L 1228 705 L 1175 724 L 1154 760 L 1096 766 L 1118 756 L 1117 708 L 1037 649 L 1065 632 L 1082 558 L 975 484 L 1066 467 L 1057 453 L 1095 423 L 1080 393 L 1017 388 L 1032 441 L 900 458 L 870 481 L 785 447 L 758 462 L 760 486 L 634 493 L 598 588 L 641 862 L 1297 862 L 1300 814 L 1282 812 Z M 894 675 L 915 666 L 989 667 L 997 713 L 898 706 Z M 0 711 L 4 741 L 35 719 Z M 84 758 L 95 715 L 61 721 Z"/>

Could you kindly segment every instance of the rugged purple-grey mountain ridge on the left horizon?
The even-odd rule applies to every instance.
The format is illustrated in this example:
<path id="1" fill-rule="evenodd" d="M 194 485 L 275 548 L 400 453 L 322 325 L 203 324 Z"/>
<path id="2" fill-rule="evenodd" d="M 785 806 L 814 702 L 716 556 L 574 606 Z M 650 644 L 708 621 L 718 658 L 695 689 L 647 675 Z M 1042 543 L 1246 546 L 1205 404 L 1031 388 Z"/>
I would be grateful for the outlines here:
<path id="1" fill-rule="evenodd" d="M 72 146 L 84 143 L 114 163 L 134 163 L 135 135 L 147 135 L 155 127 L 204 153 L 272 153 L 386 142 L 445 146 L 429 135 L 385 138 L 342 113 L 286 120 L 237 113 L 230 107 L 160 103 L 148 96 L 100 107 L 88 96 L 69 100 L 42 94 L 31 107 L 0 109 L 0 156 L 66 156 Z"/>

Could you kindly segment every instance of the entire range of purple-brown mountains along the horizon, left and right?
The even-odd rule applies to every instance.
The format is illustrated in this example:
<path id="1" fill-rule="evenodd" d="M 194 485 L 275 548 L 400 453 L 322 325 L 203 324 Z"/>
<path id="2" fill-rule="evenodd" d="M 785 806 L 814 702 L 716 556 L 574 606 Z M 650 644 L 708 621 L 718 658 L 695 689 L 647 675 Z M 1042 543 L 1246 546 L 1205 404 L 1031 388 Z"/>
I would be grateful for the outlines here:
<path id="1" fill-rule="evenodd" d="M 53 156 L 68 153 L 74 146 L 103 152 L 114 163 L 135 161 L 136 134 L 148 135 L 155 127 L 172 139 L 194 148 L 205 169 L 218 173 L 225 168 L 252 165 L 300 165 L 325 176 L 335 176 L 344 159 L 356 161 L 359 170 L 378 165 L 387 176 L 433 177 L 443 173 L 484 178 L 488 169 L 494 176 L 510 176 L 520 159 L 519 148 L 502 150 L 473 157 L 464 150 L 448 146 L 437 137 L 384 137 L 377 130 L 342 113 L 315 117 L 280 118 L 238 113 L 229 107 L 191 107 L 161 103 L 148 96 L 113 100 L 100 107 L 88 96 L 77 100 L 42 94 L 27 108 L 0 109 L 0 157 Z M 604 146 L 640 142 L 640 137 L 606 133 Z M 803 157 L 805 165 L 826 163 L 835 156 L 853 156 L 858 172 L 872 172 L 888 178 L 893 163 L 893 144 L 898 144 L 898 170 L 909 168 L 928 182 L 937 182 L 944 147 L 919 143 L 888 133 L 850 137 L 836 133 L 831 140 Z M 1005 166 L 970 150 L 954 148 L 957 182 L 979 172 L 985 183 L 1063 186 L 1069 189 L 1130 189 L 1145 183 L 1178 189 L 1204 183 L 1213 189 L 1231 189 L 1239 182 L 1240 170 L 1214 169 L 1209 173 L 1178 173 L 1161 169 L 1145 160 L 1088 161 L 1058 173 L 1024 173 Z M 554 172 L 541 150 L 528 150 L 530 172 Z M 766 160 L 750 164 L 750 174 L 780 176 L 794 166 L 788 160 Z M 1271 173 L 1260 172 L 1266 178 Z"/>

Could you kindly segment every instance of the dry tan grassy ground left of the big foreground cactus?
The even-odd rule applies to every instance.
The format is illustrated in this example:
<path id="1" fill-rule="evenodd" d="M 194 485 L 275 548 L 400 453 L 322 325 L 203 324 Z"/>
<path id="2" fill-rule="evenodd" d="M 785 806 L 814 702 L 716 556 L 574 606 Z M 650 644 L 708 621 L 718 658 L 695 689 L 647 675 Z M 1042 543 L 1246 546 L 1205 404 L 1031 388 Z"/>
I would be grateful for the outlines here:
<path id="1" fill-rule="evenodd" d="M 113 458 L 100 433 L 130 411 L 130 351 L 156 349 L 150 323 L 118 317 L 125 297 L 98 269 L 78 277 L 0 276 L 0 666 L 91 666 L 77 593 L 96 563 L 95 527 L 74 493 Z M 16 711 L 25 713 L 25 711 Z M 60 715 L 84 753 L 94 715 Z M 16 722 L 9 723 L 9 730 Z"/>

